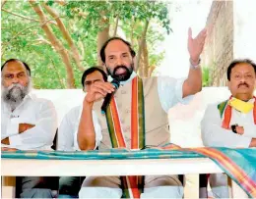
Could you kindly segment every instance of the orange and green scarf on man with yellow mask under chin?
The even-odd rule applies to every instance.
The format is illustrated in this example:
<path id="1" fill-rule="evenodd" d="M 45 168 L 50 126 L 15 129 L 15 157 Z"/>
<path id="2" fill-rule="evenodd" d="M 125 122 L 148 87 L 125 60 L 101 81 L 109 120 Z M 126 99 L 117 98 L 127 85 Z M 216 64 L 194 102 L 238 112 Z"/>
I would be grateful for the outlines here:
<path id="1" fill-rule="evenodd" d="M 218 105 L 218 109 L 220 111 L 221 118 L 224 117 L 223 119 L 223 125 L 222 127 L 225 129 L 230 129 L 230 121 L 232 117 L 232 107 L 228 104 L 228 101 L 232 98 L 232 96 L 222 102 L 221 104 Z M 254 118 L 254 124 L 256 124 L 256 97 L 254 97 L 254 107 L 253 107 L 253 118 Z"/>

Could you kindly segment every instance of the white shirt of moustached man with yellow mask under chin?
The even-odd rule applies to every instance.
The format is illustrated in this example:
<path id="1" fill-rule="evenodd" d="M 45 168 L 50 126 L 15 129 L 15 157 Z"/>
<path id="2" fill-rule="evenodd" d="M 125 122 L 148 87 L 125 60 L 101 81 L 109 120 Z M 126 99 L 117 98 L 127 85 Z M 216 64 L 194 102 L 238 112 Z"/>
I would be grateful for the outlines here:
<path id="1" fill-rule="evenodd" d="M 249 100 L 249 102 L 254 103 L 254 99 Z M 223 119 L 221 119 L 218 104 L 208 106 L 201 122 L 202 138 L 205 146 L 230 148 L 249 147 L 251 139 L 256 137 L 253 110 L 248 114 L 243 114 L 232 108 L 230 125 L 238 124 L 244 128 L 244 133 L 239 135 L 232 130 L 222 127 Z"/>

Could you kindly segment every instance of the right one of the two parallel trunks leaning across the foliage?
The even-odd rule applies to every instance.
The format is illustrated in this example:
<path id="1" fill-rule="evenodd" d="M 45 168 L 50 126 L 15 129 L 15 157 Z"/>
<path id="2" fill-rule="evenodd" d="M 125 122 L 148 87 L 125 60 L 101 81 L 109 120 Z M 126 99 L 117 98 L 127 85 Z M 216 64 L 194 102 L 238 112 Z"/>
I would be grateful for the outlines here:
<path id="1" fill-rule="evenodd" d="M 72 52 L 71 53 L 72 57 L 75 60 L 75 63 L 78 66 L 78 69 L 81 72 L 84 72 L 85 69 L 81 65 L 81 60 L 82 59 L 81 59 L 80 53 L 78 51 L 78 48 L 76 47 L 75 43 L 73 42 L 73 39 L 71 38 L 70 33 L 68 32 L 67 28 L 65 27 L 65 25 L 62 23 L 61 19 L 59 18 L 59 15 L 50 6 L 46 5 L 46 3 L 42 3 L 42 5 L 45 8 L 45 10 L 50 14 L 50 16 L 55 19 L 63 37 L 68 42 L 68 45 L 69 45 L 69 47 L 71 49 L 71 52 Z"/>

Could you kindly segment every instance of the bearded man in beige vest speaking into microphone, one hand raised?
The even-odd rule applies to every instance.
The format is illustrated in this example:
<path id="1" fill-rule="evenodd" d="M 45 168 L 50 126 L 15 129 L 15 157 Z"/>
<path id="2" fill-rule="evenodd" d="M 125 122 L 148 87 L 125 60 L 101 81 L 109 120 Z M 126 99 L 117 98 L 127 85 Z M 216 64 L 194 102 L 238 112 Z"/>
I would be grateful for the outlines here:
<path id="1" fill-rule="evenodd" d="M 140 78 L 134 72 L 135 52 L 131 44 L 120 37 L 108 39 L 100 50 L 100 57 L 109 77 L 120 82 L 103 116 L 95 109 L 102 128 L 101 148 L 142 149 L 146 145 L 169 143 L 168 109 L 178 102 L 187 102 L 202 89 L 199 57 L 203 50 L 206 30 L 193 39 L 189 31 L 188 49 L 191 67 L 186 79 L 169 76 Z M 114 91 L 109 82 L 96 82 L 85 97 L 83 106 L 87 119 L 80 123 L 78 144 L 84 150 L 96 142 L 95 120 L 92 110 L 98 99 Z M 107 95 L 109 96 L 109 95 Z M 184 99 L 183 99 L 184 98 Z M 108 97 L 105 97 L 105 100 Z M 106 102 L 106 101 L 104 101 Z M 105 104 L 105 103 L 103 103 Z M 104 109 L 102 110 L 104 111 Z M 90 119 L 90 120 L 89 120 Z M 94 123 L 93 123 L 94 122 Z M 145 180 L 144 180 L 145 179 Z M 89 176 L 79 192 L 80 198 L 182 198 L 183 187 L 176 175 L 158 176 Z M 130 191 L 124 191 L 123 187 Z"/>

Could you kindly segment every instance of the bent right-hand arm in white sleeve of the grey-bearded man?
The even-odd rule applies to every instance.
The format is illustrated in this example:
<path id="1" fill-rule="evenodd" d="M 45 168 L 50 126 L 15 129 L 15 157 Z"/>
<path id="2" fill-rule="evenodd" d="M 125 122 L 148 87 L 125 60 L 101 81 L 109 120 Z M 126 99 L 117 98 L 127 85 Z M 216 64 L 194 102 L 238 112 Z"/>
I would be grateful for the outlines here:
<path id="1" fill-rule="evenodd" d="M 37 148 L 51 145 L 57 128 L 57 114 L 50 101 L 41 104 L 35 124 L 18 124 L 18 134 L 9 136 L 9 144 L 16 148 Z"/>

